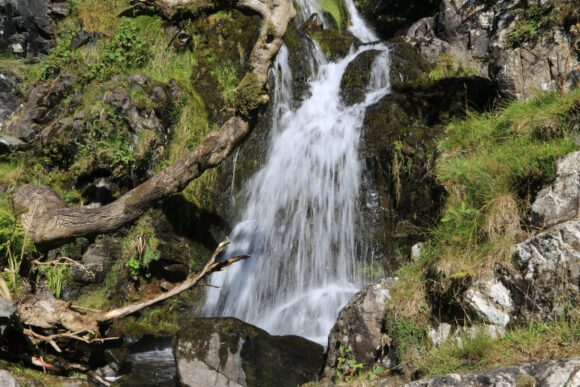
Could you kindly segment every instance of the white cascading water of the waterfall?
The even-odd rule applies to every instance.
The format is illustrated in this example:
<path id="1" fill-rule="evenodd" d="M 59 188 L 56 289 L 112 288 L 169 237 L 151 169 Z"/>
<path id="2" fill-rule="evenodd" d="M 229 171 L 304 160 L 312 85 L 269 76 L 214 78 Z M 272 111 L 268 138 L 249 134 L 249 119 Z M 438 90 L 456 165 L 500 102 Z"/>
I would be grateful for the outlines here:
<path id="1" fill-rule="evenodd" d="M 350 31 L 362 42 L 377 40 L 352 0 Z M 300 2 L 301 19 L 320 10 Z M 365 101 L 341 102 L 348 64 L 378 50 Z M 307 53 L 305 53 L 307 55 Z M 389 90 L 388 50 L 362 45 L 338 62 L 312 52 L 312 96 L 293 108 L 288 50 L 275 69 L 269 154 L 245 187 L 247 204 L 226 255 L 251 254 L 243 264 L 213 275 L 204 314 L 234 316 L 273 334 L 296 334 L 326 344 L 338 312 L 363 285 L 357 256 L 356 207 L 360 185 L 359 131 L 367 106 Z"/>

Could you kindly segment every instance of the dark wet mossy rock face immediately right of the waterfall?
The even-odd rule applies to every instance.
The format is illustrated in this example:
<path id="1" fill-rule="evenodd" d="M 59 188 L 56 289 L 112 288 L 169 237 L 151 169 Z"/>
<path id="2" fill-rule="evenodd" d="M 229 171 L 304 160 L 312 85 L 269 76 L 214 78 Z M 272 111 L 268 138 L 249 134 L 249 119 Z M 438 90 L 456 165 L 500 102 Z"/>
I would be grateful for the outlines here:
<path id="1" fill-rule="evenodd" d="M 424 238 L 420 230 L 438 219 L 443 189 L 434 166 L 441 120 L 461 116 L 466 101 L 484 109 L 496 94 L 492 82 L 477 77 L 403 83 L 367 109 L 360 146 L 361 235 L 367 238 L 364 248 L 389 257 L 391 270 Z"/>

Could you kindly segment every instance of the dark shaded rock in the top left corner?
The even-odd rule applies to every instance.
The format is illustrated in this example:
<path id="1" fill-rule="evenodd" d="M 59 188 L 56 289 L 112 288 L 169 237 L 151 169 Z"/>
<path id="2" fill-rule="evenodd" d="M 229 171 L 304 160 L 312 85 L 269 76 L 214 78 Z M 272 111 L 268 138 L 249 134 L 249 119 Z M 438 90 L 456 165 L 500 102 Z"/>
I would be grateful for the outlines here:
<path id="1" fill-rule="evenodd" d="M 1 0 L 0 53 L 22 57 L 47 55 L 55 20 L 66 17 L 65 0 Z"/>

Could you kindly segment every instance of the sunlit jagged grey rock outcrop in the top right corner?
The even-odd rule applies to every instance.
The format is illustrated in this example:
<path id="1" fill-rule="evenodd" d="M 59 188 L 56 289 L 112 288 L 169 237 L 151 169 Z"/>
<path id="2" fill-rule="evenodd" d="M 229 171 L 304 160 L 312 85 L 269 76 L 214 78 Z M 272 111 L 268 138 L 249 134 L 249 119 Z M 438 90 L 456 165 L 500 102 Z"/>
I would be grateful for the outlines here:
<path id="1" fill-rule="evenodd" d="M 578 82 L 574 37 L 554 26 L 527 43 L 510 33 L 526 17 L 527 2 L 443 0 L 440 12 L 409 27 L 406 40 L 427 60 L 441 55 L 498 82 L 507 96 L 528 99 L 538 90 L 568 90 Z"/>

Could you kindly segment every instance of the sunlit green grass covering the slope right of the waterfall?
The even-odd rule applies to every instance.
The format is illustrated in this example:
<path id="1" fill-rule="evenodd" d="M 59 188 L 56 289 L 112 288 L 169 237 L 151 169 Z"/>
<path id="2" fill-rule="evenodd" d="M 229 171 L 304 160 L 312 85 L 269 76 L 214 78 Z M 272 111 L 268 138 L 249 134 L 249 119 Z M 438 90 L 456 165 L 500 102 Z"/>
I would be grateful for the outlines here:
<path id="1" fill-rule="evenodd" d="M 424 338 L 436 307 L 429 300 L 452 300 L 497 265 L 511 267 L 511 246 L 528 235 L 524 211 L 534 192 L 554 179 L 556 159 L 580 148 L 579 106 L 579 90 L 545 93 L 448 124 L 436 165 L 447 192 L 441 221 L 430 230 L 420 259 L 396 273 L 400 280 L 387 316 L 386 331 L 401 362 L 433 375 L 577 353 L 578 310 L 570 306 L 560 320 L 516 327 L 493 345 L 476 335 L 430 348 Z M 540 355 L 542 346 L 551 354 Z"/>

